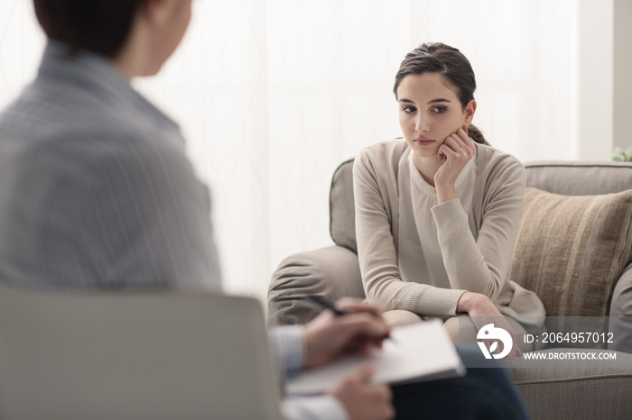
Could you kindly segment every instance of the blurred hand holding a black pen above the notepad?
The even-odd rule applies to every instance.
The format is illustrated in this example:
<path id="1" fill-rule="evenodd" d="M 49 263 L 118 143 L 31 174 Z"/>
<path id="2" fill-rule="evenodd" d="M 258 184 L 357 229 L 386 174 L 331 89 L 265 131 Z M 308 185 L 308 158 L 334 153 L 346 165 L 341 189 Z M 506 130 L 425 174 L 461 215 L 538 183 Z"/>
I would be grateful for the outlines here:
<path id="1" fill-rule="evenodd" d="M 318 297 L 307 300 L 330 311 L 322 311 L 304 327 L 305 368 L 327 364 L 344 354 L 368 355 L 381 348 L 390 336 L 390 328 L 377 306 L 364 305 L 353 298 L 340 299 L 336 306 Z"/>

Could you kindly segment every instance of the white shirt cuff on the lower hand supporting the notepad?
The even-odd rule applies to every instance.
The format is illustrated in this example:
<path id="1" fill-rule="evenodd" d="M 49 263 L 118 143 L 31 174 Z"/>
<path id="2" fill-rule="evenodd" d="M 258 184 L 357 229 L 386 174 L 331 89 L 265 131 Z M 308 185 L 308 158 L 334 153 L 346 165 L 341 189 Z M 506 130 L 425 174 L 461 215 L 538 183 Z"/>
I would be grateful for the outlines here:
<path id="1" fill-rule="evenodd" d="M 285 420 L 349 420 L 347 410 L 334 397 L 288 397 L 281 406 Z"/>

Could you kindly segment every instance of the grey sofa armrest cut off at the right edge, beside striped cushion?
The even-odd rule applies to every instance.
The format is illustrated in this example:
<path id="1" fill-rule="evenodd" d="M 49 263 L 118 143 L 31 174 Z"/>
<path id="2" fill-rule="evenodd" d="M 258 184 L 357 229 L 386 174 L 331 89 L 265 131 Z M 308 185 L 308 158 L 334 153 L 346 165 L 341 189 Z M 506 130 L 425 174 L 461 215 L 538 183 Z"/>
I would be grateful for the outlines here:
<path id="1" fill-rule="evenodd" d="M 609 332 L 614 343 L 609 350 L 632 353 L 632 264 L 618 278 L 610 301 Z"/>

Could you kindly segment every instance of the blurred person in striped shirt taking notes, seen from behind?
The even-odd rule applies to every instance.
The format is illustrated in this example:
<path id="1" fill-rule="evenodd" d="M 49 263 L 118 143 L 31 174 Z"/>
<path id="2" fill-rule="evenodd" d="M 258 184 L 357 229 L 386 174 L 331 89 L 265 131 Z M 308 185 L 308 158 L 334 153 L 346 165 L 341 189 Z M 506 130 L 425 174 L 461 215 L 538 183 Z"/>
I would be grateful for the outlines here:
<path id="1" fill-rule="evenodd" d="M 0 278 L 23 288 L 220 288 L 208 188 L 178 125 L 130 86 L 178 47 L 191 0 L 34 5 L 49 42 L 33 83 L 0 114 Z M 285 373 L 381 345 L 389 330 L 378 308 L 339 307 L 349 315 L 325 311 L 271 332 Z M 326 395 L 285 398 L 283 415 L 528 417 L 502 369 L 394 388 L 370 385 L 372 373 L 358 370 Z"/>

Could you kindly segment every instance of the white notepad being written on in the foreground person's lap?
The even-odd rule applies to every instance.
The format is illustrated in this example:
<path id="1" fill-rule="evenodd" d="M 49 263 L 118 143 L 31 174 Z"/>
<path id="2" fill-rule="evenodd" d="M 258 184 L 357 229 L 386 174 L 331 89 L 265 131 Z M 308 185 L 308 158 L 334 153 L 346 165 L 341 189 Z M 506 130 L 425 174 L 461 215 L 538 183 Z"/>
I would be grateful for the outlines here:
<path id="1" fill-rule="evenodd" d="M 375 364 L 376 384 L 398 384 L 462 376 L 465 367 L 440 320 L 395 328 L 392 340 L 367 358 L 349 356 L 322 368 L 307 370 L 286 383 L 288 394 L 320 394 L 336 387 L 353 370 Z"/>

